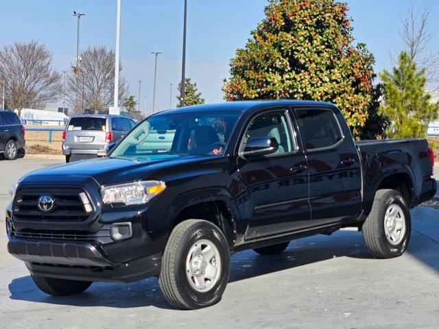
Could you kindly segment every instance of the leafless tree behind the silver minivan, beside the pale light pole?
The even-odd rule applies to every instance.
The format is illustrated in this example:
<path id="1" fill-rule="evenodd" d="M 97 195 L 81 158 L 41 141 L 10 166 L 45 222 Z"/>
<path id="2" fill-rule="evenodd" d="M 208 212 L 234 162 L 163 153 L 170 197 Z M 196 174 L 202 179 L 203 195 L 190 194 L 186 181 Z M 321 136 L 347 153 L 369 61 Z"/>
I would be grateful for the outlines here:
<path id="1" fill-rule="evenodd" d="M 121 69 L 122 66 L 119 66 L 119 71 Z M 82 51 L 79 68 L 73 67 L 68 77 L 68 88 L 76 113 L 108 110 L 115 90 L 115 52 L 103 45 Z M 121 77 L 119 99 L 126 99 L 127 93 L 128 85 Z"/>

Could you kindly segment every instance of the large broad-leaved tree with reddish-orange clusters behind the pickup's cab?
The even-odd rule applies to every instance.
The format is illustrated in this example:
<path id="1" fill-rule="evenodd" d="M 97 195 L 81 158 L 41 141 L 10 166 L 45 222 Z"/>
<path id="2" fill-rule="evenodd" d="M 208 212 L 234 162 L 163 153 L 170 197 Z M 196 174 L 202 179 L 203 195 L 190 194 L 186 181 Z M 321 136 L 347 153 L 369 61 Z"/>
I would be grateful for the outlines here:
<path id="1" fill-rule="evenodd" d="M 353 45 L 346 3 L 270 0 L 265 19 L 230 63 L 225 98 L 332 101 L 356 138 L 368 117 L 373 56 Z"/>

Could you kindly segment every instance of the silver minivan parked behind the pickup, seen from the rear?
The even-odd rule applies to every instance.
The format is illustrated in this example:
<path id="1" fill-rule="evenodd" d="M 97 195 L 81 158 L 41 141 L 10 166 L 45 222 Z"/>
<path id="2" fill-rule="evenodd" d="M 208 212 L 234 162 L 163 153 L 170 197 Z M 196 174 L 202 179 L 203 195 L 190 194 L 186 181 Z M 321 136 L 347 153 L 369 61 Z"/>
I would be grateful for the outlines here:
<path id="1" fill-rule="evenodd" d="M 108 114 L 81 114 L 71 117 L 62 133 L 62 154 L 66 162 L 72 155 L 106 156 L 110 143 L 119 141 L 136 123 L 127 117 Z"/>

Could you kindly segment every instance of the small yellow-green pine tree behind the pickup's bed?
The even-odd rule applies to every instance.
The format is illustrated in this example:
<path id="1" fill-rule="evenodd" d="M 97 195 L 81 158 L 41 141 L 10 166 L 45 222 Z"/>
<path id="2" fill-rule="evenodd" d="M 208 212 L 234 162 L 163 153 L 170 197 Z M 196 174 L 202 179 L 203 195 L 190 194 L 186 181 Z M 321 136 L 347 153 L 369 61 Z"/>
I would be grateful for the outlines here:
<path id="1" fill-rule="evenodd" d="M 390 118 L 390 138 L 425 138 L 431 121 L 438 119 L 439 103 L 425 92 L 425 69 L 418 70 L 405 51 L 398 56 L 398 67 L 380 75 L 384 88 L 382 114 Z"/>

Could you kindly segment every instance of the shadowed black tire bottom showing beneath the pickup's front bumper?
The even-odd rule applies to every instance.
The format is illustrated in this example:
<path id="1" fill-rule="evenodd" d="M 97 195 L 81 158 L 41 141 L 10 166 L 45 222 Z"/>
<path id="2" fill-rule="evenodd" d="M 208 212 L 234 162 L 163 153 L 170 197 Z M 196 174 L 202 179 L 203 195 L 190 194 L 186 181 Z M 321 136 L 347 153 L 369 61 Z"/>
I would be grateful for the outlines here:
<path id="1" fill-rule="evenodd" d="M 44 276 L 32 276 L 32 280 L 34 280 L 36 287 L 43 291 L 43 293 L 54 296 L 82 293 L 82 291 L 85 291 L 93 283 L 90 281 L 45 278 Z"/>

